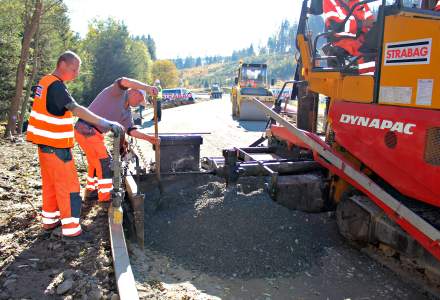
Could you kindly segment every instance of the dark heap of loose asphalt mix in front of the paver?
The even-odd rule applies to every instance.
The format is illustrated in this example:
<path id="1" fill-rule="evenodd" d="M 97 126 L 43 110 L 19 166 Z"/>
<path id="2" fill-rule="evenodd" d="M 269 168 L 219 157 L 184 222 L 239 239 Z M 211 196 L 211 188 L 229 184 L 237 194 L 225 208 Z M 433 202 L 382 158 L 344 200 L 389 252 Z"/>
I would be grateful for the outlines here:
<path id="1" fill-rule="evenodd" d="M 325 247 L 340 240 L 334 224 L 326 225 L 327 213 L 291 211 L 262 189 L 243 192 L 243 185 L 225 193 L 226 185 L 214 180 L 164 196 L 168 209 L 147 218 L 150 249 L 210 275 L 277 277 L 319 264 Z"/>

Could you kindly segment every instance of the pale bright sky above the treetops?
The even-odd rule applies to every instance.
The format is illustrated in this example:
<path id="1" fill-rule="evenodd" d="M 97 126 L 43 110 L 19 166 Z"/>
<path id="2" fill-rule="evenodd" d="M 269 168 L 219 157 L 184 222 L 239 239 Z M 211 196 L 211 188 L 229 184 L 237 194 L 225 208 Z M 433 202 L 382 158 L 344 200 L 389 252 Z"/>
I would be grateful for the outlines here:
<path id="1" fill-rule="evenodd" d="M 231 55 L 265 44 L 284 19 L 293 22 L 300 0 L 141 1 L 64 0 L 72 29 L 81 36 L 94 18 L 124 21 L 131 34 L 151 34 L 159 58 Z"/>

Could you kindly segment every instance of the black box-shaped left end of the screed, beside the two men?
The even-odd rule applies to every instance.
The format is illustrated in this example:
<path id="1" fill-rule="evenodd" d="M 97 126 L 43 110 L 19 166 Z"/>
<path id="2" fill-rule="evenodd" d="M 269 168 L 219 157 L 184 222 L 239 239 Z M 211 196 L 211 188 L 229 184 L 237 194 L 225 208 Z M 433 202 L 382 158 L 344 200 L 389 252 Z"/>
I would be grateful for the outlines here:
<path id="1" fill-rule="evenodd" d="M 175 184 L 197 184 L 207 172 L 200 171 L 200 145 L 203 138 L 194 134 L 160 135 L 160 176 L 156 164 L 140 166 L 141 149 L 132 149 L 134 159 L 127 164 L 124 227 L 140 246 L 144 241 L 144 214 L 166 205 L 164 198 L 174 194 Z M 153 147 L 154 149 L 154 147 Z M 160 188 L 159 188 L 160 187 Z"/>

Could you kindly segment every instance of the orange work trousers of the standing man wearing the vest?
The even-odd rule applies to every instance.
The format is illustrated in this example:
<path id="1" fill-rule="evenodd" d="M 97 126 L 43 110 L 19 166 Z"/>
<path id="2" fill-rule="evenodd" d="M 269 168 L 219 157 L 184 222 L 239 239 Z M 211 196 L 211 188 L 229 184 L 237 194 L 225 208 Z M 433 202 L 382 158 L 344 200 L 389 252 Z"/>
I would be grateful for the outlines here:
<path id="1" fill-rule="evenodd" d="M 40 145 L 38 158 L 43 186 L 43 227 L 52 229 L 61 221 L 63 235 L 80 235 L 81 196 L 71 149 Z"/>

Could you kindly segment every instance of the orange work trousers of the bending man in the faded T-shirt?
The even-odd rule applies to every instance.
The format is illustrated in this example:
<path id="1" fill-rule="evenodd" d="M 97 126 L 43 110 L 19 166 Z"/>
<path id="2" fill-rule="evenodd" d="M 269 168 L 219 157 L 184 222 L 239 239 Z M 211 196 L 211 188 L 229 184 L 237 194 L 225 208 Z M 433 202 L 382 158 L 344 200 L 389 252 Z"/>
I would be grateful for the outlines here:
<path id="1" fill-rule="evenodd" d="M 87 184 L 89 191 L 98 191 L 98 201 L 110 201 L 113 190 L 111 156 L 104 145 L 104 136 L 96 129 L 82 134 L 75 128 L 75 139 L 87 157 Z"/>

